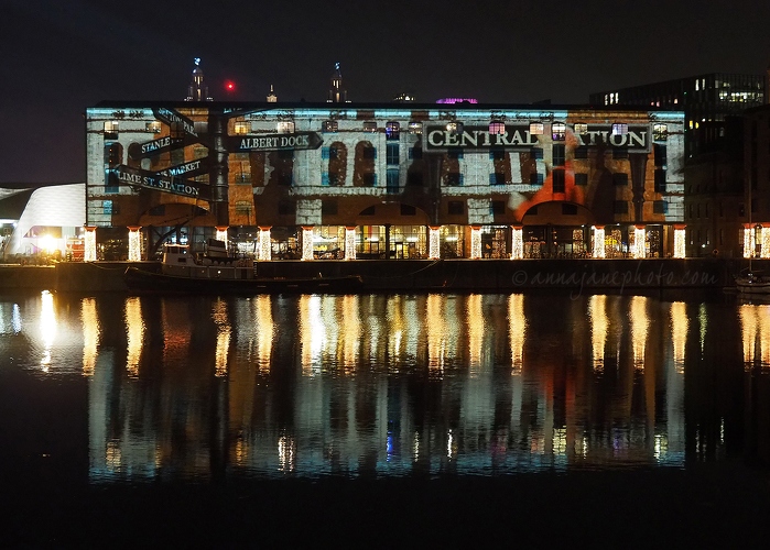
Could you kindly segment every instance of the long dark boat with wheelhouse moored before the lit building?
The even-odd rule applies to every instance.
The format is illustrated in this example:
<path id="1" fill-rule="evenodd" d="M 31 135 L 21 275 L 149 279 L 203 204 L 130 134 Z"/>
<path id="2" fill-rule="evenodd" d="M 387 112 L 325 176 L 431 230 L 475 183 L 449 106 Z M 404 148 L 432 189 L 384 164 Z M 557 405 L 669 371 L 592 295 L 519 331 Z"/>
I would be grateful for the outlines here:
<path id="1" fill-rule="evenodd" d="M 254 262 L 221 254 L 221 241 L 209 241 L 206 254 L 194 256 L 187 245 L 166 244 L 160 272 L 130 266 L 124 280 L 129 289 L 143 293 L 328 293 L 357 292 L 362 286 L 358 275 L 315 277 L 260 277 Z M 217 251 L 217 253 L 212 253 Z"/>

